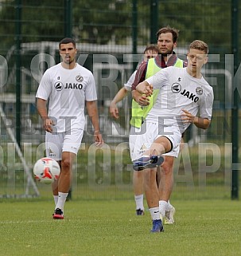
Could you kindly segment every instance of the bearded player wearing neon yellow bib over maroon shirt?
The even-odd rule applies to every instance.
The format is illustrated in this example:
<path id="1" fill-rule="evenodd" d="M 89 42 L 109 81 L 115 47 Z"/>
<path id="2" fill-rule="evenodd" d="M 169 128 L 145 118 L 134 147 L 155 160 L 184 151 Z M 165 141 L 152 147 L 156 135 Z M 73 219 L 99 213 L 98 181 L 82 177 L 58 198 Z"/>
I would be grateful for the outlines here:
<path id="1" fill-rule="evenodd" d="M 154 59 L 143 61 L 135 76 L 132 85 L 132 96 L 134 100 L 132 104 L 132 119 L 130 120 L 130 124 L 132 125 L 132 128 L 130 129 L 130 156 L 132 160 L 136 159 L 136 156 L 133 154 L 133 147 L 140 134 L 141 124 L 153 107 L 154 98 L 156 98 L 157 95 L 156 90 L 154 96 L 146 97 L 145 95 L 138 93 L 135 88 L 138 83 L 153 76 L 154 73 L 157 73 L 161 69 L 165 69 L 169 66 L 176 66 L 178 68 L 185 67 L 186 63 L 179 59 L 174 52 L 174 49 L 177 47 L 178 33 L 178 30 L 169 26 L 158 30 L 157 46 L 160 54 Z M 162 167 L 158 167 L 157 169 L 157 180 L 160 180 L 158 188 L 160 192 L 160 208 L 162 209 L 161 218 L 164 219 L 166 224 L 174 223 L 173 215 L 175 213 L 175 208 L 169 203 L 169 198 L 173 189 L 173 160 L 174 157 L 178 156 L 178 152 L 179 148 L 169 152 L 165 157 L 165 163 L 163 163 Z M 138 172 L 135 175 L 138 176 L 137 180 L 139 180 L 139 183 L 142 183 L 142 172 Z M 143 188 L 138 192 L 138 194 L 135 194 L 136 204 L 143 209 Z M 168 203 L 166 204 L 165 202 Z"/>

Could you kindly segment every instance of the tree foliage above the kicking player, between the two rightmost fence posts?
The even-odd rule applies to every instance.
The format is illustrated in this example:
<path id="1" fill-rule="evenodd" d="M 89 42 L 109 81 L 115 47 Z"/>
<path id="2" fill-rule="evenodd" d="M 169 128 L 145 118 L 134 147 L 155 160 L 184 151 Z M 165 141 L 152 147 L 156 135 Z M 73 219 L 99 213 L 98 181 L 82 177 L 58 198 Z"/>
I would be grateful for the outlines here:
<path id="1" fill-rule="evenodd" d="M 231 1 L 165 0 L 161 1 L 159 10 L 160 26 L 177 27 L 182 45 L 195 39 L 219 49 L 231 45 Z"/>

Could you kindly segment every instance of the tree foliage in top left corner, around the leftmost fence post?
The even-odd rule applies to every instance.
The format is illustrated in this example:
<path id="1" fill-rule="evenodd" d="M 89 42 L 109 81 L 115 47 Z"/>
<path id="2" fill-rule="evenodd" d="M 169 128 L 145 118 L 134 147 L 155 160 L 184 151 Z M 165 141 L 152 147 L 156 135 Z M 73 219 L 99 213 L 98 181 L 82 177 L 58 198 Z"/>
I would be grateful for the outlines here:
<path id="1" fill-rule="evenodd" d="M 21 41 L 56 41 L 64 33 L 64 1 L 21 1 Z M 14 0 L 1 2 L 0 35 L 2 47 L 14 45 L 16 6 Z M 51 21 L 51 22 L 50 22 Z M 7 35 L 7 37 L 6 37 Z"/>

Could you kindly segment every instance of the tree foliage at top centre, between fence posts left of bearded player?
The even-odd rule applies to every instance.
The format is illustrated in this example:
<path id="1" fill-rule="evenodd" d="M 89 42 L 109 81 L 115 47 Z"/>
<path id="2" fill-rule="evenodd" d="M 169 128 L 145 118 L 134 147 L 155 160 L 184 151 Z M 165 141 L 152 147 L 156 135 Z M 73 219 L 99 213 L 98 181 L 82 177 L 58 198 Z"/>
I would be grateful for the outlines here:
<path id="1" fill-rule="evenodd" d="M 130 1 L 80 0 L 73 8 L 73 33 L 82 42 L 125 42 L 131 35 L 131 16 Z"/>

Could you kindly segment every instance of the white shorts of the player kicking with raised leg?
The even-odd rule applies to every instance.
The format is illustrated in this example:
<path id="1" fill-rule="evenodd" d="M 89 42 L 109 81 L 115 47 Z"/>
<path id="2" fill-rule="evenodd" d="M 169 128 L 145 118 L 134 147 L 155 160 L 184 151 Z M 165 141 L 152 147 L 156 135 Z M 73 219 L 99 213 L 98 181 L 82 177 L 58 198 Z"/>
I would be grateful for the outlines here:
<path id="1" fill-rule="evenodd" d="M 134 161 L 141 157 L 142 153 L 149 149 L 154 140 L 160 136 L 167 137 L 173 144 L 173 150 L 163 154 L 163 156 L 177 157 L 181 142 L 181 133 L 178 129 L 172 126 L 161 128 L 160 124 L 147 121 L 142 124 L 141 128 L 130 128 L 129 147 L 131 160 Z"/>

